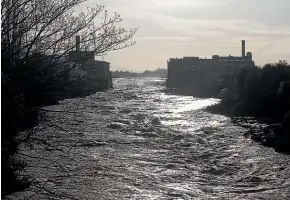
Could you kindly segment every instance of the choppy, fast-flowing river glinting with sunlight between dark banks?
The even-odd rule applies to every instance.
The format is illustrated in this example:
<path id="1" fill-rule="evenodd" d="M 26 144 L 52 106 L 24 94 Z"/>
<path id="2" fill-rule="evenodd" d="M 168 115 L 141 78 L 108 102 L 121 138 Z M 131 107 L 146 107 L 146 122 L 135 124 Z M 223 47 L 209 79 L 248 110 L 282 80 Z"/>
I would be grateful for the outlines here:
<path id="1" fill-rule="evenodd" d="M 290 157 L 203 110 L 218 102 L 162 92 L 158 79 L 46 107 L 23 145 L 27 199 L 290 199 Z"/>

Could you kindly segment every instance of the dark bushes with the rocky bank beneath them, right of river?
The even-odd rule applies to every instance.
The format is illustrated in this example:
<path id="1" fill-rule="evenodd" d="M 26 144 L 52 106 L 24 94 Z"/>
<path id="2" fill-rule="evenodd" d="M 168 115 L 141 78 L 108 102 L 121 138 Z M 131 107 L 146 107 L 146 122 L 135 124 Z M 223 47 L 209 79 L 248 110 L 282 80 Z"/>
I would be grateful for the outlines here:
<path id="1" fill-rule="evenodd" d="M 290 152 L 290 66 L 286 62 L 245 67 L 236 76 L 219 79 L 209 87 L 219 91 L 221 103 L 209 107 L 232 117 L 252 116 L 271 124 L 254 138 L 277 151 Z"/>

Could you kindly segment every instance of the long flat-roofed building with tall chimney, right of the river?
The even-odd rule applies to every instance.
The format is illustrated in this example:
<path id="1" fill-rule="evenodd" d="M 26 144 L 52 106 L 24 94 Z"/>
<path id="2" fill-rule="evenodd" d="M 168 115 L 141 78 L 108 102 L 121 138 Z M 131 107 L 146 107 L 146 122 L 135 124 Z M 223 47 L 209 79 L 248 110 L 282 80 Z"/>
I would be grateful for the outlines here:
<path id="1" fill-rule="evenodd" d="M 213 55 L 211 59 L 199 57 L 170 58 L 167 61 L 169 87 L 183 86 L 185 82 L 213 80 L 224 74 L 234 74 L 241 67 L 254 66 L 252 53 L 245 54 L 245 40 L 242 40 L 241 56 Z"/>

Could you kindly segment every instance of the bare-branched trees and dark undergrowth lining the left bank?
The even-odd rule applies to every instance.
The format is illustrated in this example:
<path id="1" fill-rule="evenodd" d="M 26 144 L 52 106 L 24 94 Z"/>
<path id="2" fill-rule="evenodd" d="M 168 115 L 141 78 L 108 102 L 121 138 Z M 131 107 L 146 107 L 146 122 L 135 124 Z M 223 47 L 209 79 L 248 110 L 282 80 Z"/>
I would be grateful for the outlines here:
<path id="1" fill-rule="evenodd" d="M 41 106 L 65 98 L 71 72 L 80 66 L 68 61 L 75 35 L 98 56 L 134 44 L 129 40 L 137 29 L 117 27 L 122 18 L 110 17 L 103 6 L 77 13 L 75 7 L 83 2 L 1 1 L 2 197 L 29 186 L 29 180 L 18 176 L 25 167 L 17 160 L 18 147 L 30 138 L 22 131 L 37 123 Z M 100 24 L 95 23 L 98 18 Z"/>

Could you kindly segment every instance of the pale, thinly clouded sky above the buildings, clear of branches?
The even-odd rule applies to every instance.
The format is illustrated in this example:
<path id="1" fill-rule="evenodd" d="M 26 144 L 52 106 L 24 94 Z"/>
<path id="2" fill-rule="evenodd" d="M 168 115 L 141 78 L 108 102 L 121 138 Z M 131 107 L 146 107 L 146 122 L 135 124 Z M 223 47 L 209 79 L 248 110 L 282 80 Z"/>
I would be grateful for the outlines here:
<path id="1" fill-rule="evenodd" d="M 290 62 L 290 0 L 88 0 L 139 27 L 130 48 L 110 52 L 112 70 L 166 68 L 169 58 L 240 56 L 241 40 L 257 65 Z"/>

